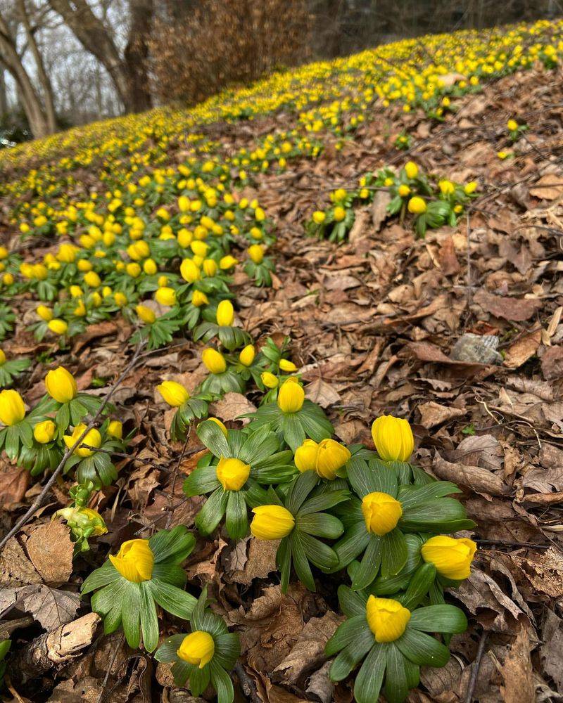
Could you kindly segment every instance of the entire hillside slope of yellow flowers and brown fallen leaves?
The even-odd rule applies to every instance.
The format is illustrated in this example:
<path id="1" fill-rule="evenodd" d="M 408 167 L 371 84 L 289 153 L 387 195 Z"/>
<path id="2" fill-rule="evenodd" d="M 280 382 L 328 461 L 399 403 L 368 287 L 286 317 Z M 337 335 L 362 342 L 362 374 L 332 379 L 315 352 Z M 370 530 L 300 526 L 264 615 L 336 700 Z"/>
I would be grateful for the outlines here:
<path id="1" fill-rule="evenodd" d="M 0 152 L 6 695 L 561 694 L 562 50 L 409 39 Z"/>

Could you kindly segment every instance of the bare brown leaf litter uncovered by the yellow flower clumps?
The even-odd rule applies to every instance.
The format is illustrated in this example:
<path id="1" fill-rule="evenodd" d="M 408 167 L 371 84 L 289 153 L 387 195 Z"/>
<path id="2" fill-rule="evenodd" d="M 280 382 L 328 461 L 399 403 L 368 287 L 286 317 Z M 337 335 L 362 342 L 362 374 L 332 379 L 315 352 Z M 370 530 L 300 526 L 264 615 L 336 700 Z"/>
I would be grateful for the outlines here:
<path id="1" fill-rule="evenodd" d="M 450 595 L 467 612 L 469 629 L 453 637 L 445 668 L 423 669 L 411 702 L 460 702 L 468 690 L 481 703 L 563 694 L 561 78 L 560 71 L 541 70 L 505 77 L 460 98 L 459 110 L 442 124 L 381 111 L 342 150 L 329 144 L 316 162 L 298 160 L 282 174 L 258 175 L 242 193 L 258 198 L 278 240 L 270 250 L 272 288 L 255 288 L 236 274 L 241 326 L 254 338 L 281 342 L 291 335 L 291 359 L 308 383 L 308 397 L 325 409 L 346 444 L 371 446 L 369 427 L 381 413 L 410 420 L 417 463 L 460 485 L 478 525 L 472 574 Z M 519 157 L 500 160 L 510 117 L 529 130 L 517 143 Z M 284 119 L 264 117 L 242 128 L 214 125 L 213 138 L 226 151 L 238 149 L 272 126 L 283 129 Z M 409 152 L 397 153 L 390 135 L 403 129 L 415 141 Z M 182 159 L 181 152 L 169 156 L 171 163 Z M 384 223 L 376 199 L 356 210 L 343 245 L 305 238 L 304 219 L 322 209 L 331 191 L 408 159 L 426 172 L 485 186 L 457 227 L 417 239 L 397 221 Z M 52 354 L 50 342 L 36 342 L 25 330 L 32 301 L 22 297 L 15 307 L 18 322 L 6 352 L 35 359 Z M 92 325 L 57 359 L 74 373 L 79 389 L 93 378 L 117 378 L 131 359 L 131 332 L 116 321 Z M 467 334 L 479 335 L 478 341 L 464 337 L 470 348 L 460 353 Z M 42 396 L 44 373 L 44 365 L 35 363 L 25 384 L 28 402 Z M 12 538 L 0 556 L 0 574 L 11 588 L 30 588 L 37 602 L 18 620 L 0 624 L 0 633 L 30 641 L 41 633 L 37 619 L 52 616 L 46 610 L 68 607 L 74 617 L 82 577 L 123 540 L 177 524 L 193 527 L 202 499 L 186 499 L 182 480 L 201 458 L 201 444 L 195 433 L 185 452 L 170 441 L 173 411 L 163 415 L 155 388 L 167 378 L 191 390 L 204 375 L 196 345 L 186 340 L 145 352 L 128 371 L 113 401 L 137 435 L 118 465 L 118 482 L 99 491 L 94 506 L 110 530 L 74 571 L 68 543 L 52 531 L 44 536 L 56 545 L 50 564 L 30 562 L 24 547 L 37 520 Z M 234 427 L 252 409 L 252 394 L 229 393 L 211 412 Z M 0 467 L 0 520 L 8 531 L 41 488 L 26 470 L 4 459 Z M 45 529 L 53 529 L 49 518 L 65 504 L 63 483 L 53 485 L 36 516 Z M 323 654 L 342 619 L 338 579 L 317 579 L 317 593 L 292 583 L 283 595 L 274 555 L 272 543 L 246 538 L 233 545 L 217 534 L 198 543 L 186 564 L 189 582 L 207 584 L 215 610 L 240 633 L 243 657 L 235 675 L 242 689 L 270 703 L 350 702 L 350 683 L 329 681 Z M 47 580 L 65 584 L 68 603 L 42 595 L 49 568 L 56 576 Z M 13 699 L 95 703 L 102 696 L 140 703 L 158 692 L 170 703 L 195 700 L 173 687 L 167 665 L 130 650 L 120 633 L 98 633 L 80 656 L 58 667 L 54 679 L 51 673 L 17 693 L 11 685 Z"/>

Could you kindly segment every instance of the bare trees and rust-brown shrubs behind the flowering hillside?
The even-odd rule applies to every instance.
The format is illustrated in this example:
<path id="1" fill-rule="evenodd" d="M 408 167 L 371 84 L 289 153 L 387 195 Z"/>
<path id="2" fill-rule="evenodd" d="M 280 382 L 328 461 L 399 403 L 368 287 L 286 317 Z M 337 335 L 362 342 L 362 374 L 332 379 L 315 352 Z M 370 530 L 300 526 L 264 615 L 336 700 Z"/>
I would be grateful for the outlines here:
<path id="1" fill-rule="evenodd" d="M 0 0 L 0 146 L 562 0 Z"/>

